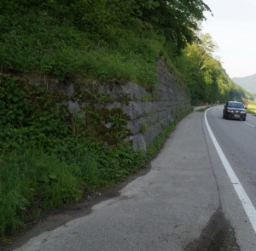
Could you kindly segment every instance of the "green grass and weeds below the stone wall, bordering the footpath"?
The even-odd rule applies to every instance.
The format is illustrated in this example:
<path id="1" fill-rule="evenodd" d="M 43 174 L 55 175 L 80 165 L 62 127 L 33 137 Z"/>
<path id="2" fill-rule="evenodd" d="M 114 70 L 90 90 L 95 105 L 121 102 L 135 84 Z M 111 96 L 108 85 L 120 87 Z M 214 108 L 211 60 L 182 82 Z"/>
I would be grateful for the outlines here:
<path id="1" fill-rule="evenodd" d="M 60 143 L 51 154 L 36 149 L 0 154 L 0 238 L 11 237 L 45 209 L 78 203 L 84 193 L 119 183 L 147 159 L 127 144 Z"/>

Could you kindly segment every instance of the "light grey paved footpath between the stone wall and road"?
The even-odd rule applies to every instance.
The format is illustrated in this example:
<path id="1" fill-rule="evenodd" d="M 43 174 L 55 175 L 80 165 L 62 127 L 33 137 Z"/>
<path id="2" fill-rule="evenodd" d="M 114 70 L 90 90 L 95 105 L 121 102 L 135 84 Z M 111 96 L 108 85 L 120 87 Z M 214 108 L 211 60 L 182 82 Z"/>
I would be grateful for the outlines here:
<path id="1" fill-rule="evenodd" d="M 194 111 L 184 118 L 148 174 L 126 185 L 119 196 L 15 250 L 183 250 L 201 236 L 219 207 L 202 117 Z"/>

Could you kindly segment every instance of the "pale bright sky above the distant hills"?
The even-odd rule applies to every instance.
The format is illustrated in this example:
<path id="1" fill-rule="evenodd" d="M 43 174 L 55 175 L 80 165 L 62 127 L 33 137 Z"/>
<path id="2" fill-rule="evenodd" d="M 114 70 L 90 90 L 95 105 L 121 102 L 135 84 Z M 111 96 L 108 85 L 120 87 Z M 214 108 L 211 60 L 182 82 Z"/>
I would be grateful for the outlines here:
<path id="1" fill-rule="evenodd" d="M 204 0 L 202 32 L 218 44 L 215 53 L 227 74 L 247 77 L 256 73 L 256 0 Z"/>

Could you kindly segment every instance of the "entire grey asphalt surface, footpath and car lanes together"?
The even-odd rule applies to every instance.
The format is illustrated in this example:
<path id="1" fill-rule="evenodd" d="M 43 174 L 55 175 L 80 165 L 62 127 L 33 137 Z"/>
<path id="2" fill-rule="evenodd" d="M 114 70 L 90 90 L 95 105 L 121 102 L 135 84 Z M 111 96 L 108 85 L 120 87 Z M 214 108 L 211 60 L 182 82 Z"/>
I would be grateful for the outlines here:
<path id="1" fill-rule="evenodd" d="M 239 199 L 205 121 L 255 206 L 256 118 L 224 120 L 222 109 L 213 107 L 206 116 L 191 113 L 177 125 L 148 174 L 126 185 L 119 196 L 97 203 L 90 214 L 44 231 L 15 250 L 256 250 L 252 219 L 242 204 L 247 201 Z M 197 243 L 209 247 L 207 236 L 229 236 L 229 243 L 196 248 Z"/>

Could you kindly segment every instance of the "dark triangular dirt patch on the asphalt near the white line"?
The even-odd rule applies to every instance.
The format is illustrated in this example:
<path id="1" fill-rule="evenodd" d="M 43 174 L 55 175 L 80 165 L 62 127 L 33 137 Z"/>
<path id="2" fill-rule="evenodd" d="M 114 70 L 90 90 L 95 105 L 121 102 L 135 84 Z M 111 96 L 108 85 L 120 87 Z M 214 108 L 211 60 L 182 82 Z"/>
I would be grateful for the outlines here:
<path id="1" fill-rule="evenodd" d="M 190 242 L 184 251 L 240 251 L 236 243 L 235 231 L 230 222 L 225 220 L 224 213 L 218 211 L 212 214 L 207 226 L 201 232 L 201 237 Z"/>

